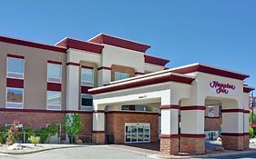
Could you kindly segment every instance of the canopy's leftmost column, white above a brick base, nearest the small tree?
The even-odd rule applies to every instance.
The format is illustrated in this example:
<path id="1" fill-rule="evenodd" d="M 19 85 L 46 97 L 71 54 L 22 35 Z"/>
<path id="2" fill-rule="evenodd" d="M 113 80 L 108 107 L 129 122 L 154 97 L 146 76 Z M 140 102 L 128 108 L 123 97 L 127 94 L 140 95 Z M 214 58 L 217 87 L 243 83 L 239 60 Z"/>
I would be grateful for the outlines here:
<path id="1" fill-rule="evenodd" d="M 105 111 L 93 112 L 92 143 L 105 144 Z"/>

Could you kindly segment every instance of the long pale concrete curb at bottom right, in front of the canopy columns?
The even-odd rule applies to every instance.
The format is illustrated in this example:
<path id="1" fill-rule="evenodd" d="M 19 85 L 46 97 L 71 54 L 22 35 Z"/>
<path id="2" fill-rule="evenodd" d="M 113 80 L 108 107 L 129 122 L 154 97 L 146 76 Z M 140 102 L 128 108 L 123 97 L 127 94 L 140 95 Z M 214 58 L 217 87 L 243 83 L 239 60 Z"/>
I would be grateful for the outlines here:
<path id="1" fill-rule="evenodd" d="M 183 155 L 173 155 L 173 156 L 161 156 L 159 154 L 149 154 L 147 157 L 153 159 L 170 159 L 170 158 L 210 158 L 210 157 L 222 157 L 227 155 L 237 155 L 237 154 L 253 154 L 256 153 L 256 150 L 249 150 L 246 152 L 230 152 L 230 153 L 221 153 L 221 154 L 200 154 L 193 156 L 183 156 Z"/>

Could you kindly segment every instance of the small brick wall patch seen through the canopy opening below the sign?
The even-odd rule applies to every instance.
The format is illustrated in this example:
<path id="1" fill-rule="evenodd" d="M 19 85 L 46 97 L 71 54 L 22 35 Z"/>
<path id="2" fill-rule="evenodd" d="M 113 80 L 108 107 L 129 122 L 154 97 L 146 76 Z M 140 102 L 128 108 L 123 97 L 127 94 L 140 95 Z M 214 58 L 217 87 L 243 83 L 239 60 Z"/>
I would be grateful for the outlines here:
<path id="1" fill-rule="evenodd" d="M 204 130 L 205 131 L 219 131 L 222 124 L 222 117 L 205 117 Z"/>

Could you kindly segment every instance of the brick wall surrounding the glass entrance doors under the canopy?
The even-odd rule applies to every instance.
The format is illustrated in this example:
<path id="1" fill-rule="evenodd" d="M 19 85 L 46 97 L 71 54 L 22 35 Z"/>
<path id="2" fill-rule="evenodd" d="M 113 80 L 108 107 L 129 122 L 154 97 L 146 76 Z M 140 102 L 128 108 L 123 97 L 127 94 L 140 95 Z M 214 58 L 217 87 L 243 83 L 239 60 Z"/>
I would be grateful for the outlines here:
<path id="1" fill-rule="evenodd" d="M 125 143 L 125 123 L 149 123 L 151 138 L 150 142 L 159 141 L 159 114 L 132 113 L 132 112 L 109 112 L 106 114 L 107 134 L 114 135 L 115 144 Z"/>

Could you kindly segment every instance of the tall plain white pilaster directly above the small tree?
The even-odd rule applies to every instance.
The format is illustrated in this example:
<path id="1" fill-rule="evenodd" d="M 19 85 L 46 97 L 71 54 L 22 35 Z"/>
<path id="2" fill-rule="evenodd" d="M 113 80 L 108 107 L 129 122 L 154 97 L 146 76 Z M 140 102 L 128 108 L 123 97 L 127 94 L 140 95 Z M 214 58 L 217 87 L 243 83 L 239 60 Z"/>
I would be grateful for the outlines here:
<path id="1" fill-rule="evenodd" d="M 79 69 L 79 64 L 73 62 L 67 63 L 67 110 L 79 109 Z"/>

